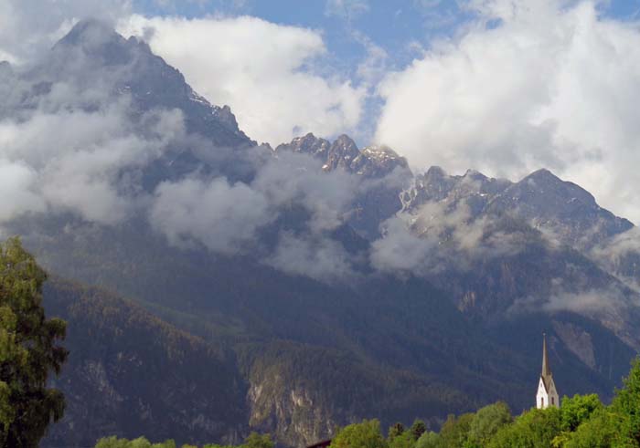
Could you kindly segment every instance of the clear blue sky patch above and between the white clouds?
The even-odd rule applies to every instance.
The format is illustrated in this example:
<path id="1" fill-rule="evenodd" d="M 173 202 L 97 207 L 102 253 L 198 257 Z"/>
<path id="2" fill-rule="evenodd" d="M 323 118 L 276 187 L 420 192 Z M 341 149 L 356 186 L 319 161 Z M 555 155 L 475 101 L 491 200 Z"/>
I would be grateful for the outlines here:
<path id="1" fill-rule="evenodd" d="M 336 65 L 348 69 L 365 53 L 354 31 L 392 55 L 393 68 L 403 68 L 416 56 L 411 43 L 429 47 L 474 17 L 463 5 L 460 0 L 137 0 L 134 9 L 149 16 L 249 15 L 320 30 Z M 633 20 L 640 15 L 640 0 L 599 2 L 599 9 L 603 16 Z"/>

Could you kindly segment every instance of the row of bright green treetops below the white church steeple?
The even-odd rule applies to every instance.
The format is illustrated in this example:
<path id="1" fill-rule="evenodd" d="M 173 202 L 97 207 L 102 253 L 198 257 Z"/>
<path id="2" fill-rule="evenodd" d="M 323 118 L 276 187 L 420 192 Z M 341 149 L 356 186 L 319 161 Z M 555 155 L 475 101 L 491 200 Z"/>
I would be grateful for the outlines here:
<path id="1" fill-rule="evenodd" d="M 332 448 L 638 448 L 640 447 L 640 358 L 611 405 L 598 396 L 564 397 L 560 409 L 531 409 L 513 417 L 506 403 L 450 415 L 440 432 L 417 421 L 383 435 L 378 420 L 348 425 Z"/>

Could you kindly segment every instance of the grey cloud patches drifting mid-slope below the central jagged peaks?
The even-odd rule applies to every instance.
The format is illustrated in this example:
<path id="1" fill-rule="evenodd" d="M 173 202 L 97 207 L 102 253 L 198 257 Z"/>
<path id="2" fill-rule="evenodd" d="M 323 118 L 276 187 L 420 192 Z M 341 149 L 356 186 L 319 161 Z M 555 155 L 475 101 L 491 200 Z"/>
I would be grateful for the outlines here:
<path id="1" fill-rule="evenodd" d="M 260 151 L 250 157 L 260 158 Z M 263 162 L 251 183 L 195 176 L 163 182 L 155 190 L 149 219 L 171 244 L 199 242 L 213 252 L 233 254 L 251 244 L 255 249 L 261 227 L 300 207 L 308 213 L 304 237 L 281 235 L 265 263 L 297 275 L 335 278 L 338 271 L 347 272 L 347 253 L 326 233 L 342 223 L 356 182 L 344 172 L 323 172 L 311 156 L 282 153 Z M 328 263 L 331 254 L 337 257 L 334 263 Z"/>

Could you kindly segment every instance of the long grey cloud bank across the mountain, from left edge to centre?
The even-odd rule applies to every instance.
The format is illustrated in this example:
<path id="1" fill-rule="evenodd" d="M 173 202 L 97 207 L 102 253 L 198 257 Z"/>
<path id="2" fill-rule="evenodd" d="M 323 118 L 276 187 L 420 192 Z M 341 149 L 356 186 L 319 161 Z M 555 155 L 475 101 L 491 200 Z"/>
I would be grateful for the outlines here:
<path id="1" fill-rule="evenodd" d="M 91 38 L 91 51 L 101 50 L 101 39 L 112 45 L 113 36 L 99 31 L 75 38 Z M 100 66 L 94 77 L 101 59 L 85 54 L 80 44 L 57 53 L 75 62 L 63 75 L 48 63 L 5 73 L 0 227 L 25 215 L 72 216 L 99 225 L 143 218 L 172 245 L 203 245 L 224 255 L 251 251 L 262 263 L 319 280 L 353 274 L 351 255 L 331 232 L 345 222 L 368 182 L 324 172 L 323 161 L 309 155 L 264 146 L 217 148 L 189 130 L 180 109 L 138 109 L 140 99 L 126 83 L 144 54 Z M 129 44 L 116 39 L 114 45 Z M 184 157 L 198 162 L 165 177 Z M 261 232 L 289 213 L 300 228 L 265 243 Z"/>

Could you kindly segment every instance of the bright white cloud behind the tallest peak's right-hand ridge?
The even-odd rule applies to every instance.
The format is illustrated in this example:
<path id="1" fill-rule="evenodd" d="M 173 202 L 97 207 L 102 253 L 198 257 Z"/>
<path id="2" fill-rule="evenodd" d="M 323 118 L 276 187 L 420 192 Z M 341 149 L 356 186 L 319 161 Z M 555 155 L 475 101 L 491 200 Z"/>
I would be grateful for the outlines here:
<path id="1" fill-rule="evenodd" d="M 309 68 L 326 51 L 318 32 L 249 16 L 132 16 L 120 29 L 145 36 L 198 93 L 228 104 L 258 141 L 276 145 L 311 130 L 335 135 L 360 119 L 364 89 Z"/>

